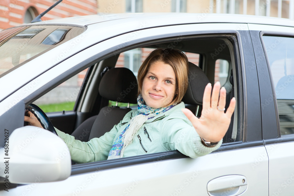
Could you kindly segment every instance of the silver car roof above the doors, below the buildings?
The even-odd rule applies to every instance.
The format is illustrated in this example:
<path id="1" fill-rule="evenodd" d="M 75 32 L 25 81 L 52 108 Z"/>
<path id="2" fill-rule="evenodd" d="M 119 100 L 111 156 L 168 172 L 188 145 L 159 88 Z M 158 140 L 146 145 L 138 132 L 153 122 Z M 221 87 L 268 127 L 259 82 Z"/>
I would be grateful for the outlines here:
<path id="1" fill-rule="evenodd" d="M 270 24 L 294 27 L 294 21 L 284 18 L 242 15 L 242 14 L 206 14 L 206 13 L 123 13 L 123 14 L 97 14 L 88 16 L 75 16 L 34 24 L 72 24 L 88 26 L 97 23 L 106 24 L 107 21 L 120 20 L 120 22 L 159 21 L 154 26 L 193 23 L 249 23 Z M 101 25 L 101 24 L 100 24 Z M 99 26 L 100 26 L 99 25 Z"/>

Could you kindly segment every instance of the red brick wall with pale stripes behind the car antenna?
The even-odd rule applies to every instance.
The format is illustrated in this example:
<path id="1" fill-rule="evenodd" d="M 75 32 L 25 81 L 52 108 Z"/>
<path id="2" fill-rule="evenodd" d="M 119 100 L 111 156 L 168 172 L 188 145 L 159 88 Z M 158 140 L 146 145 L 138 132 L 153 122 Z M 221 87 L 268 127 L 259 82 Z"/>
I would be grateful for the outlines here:
<path id="1" fill-rule="evenodd" d="M 35 16 L 52 6 L 56 0 L 1 0 L 0 30 L 24 24 L 24 16 L 29 9 Z M 64 0 L 49 11 L 42 20 L 83 16 L 97 13 L 96 0 Z"/>

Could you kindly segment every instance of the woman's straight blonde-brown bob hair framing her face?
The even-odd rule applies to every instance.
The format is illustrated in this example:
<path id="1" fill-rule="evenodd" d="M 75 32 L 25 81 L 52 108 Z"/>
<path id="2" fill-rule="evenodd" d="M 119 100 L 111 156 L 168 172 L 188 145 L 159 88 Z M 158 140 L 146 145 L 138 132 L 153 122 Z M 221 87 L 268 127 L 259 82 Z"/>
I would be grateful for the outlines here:
<path id="1" fill-rule="evenodd" d="M 170 105 L 179 103 L 188 88 L 188 58 L 176 49 L 155 49 L 142 63 L 138 71 L 138 94 L 142 92 L 143 80 L 152 63 L 163 62 L 170 65 L 176 73 L 176 94 Z"/>

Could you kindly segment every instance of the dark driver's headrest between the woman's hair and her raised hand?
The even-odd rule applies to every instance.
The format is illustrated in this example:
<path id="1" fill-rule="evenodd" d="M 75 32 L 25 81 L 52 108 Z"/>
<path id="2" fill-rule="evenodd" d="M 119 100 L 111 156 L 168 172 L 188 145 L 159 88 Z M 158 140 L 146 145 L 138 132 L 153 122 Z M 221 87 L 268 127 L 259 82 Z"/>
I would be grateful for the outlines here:
<path id="1" fill-rule="evenodd" d="M 189 62 L 188 89 L 182 99 L 186 104 L 202 105 L 203 94 L 209 80 L 201 68 Z"/>

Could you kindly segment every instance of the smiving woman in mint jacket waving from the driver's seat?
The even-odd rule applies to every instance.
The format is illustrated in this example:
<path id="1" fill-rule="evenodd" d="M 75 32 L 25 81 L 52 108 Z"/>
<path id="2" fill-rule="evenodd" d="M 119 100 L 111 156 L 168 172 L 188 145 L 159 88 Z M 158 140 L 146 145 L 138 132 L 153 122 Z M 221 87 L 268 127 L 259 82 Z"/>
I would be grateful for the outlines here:
<path id="1" fill-rule="evenodd" d="M 138 109 L 100 138 L 88 142 L 56 130 L 69 147 L 76 163 L 143 155 L 169 150 L 197 158 L 218 149 L 235 108 L 235 98 L 225 107 L 225 88 L 211 84 L 204 91 L 203 110 L 198 119 L 181 102 L 188 87 L 188 59 L 173 49 L 156 49 L 138 71 Z M 219 98 L 220 95 L 220 98 Z M 25 121 L 41 127 L 30 114 Z"/>

